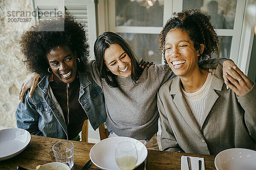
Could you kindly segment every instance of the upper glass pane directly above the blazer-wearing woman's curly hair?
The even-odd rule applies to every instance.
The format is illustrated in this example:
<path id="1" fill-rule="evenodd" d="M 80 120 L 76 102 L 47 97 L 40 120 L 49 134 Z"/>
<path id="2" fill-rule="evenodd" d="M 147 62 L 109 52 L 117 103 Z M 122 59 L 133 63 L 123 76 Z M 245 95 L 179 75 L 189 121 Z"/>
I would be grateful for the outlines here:
<path id="1" fill-rule="evenodd" d="M 184 9 L 208 11 L 218 29 L 233 29 L 237 0 L 183 0 Z"/>

